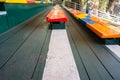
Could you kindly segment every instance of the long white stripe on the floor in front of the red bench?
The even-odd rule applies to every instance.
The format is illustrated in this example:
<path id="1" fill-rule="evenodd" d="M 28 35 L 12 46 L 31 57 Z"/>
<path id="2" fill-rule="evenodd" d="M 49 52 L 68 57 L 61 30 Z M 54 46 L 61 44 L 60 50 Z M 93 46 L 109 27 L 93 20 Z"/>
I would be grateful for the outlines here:
<path id="1" fill-rule="evenodd" d="M 80 80 L 66 30 L 53 30 L 42 80 Z"/>

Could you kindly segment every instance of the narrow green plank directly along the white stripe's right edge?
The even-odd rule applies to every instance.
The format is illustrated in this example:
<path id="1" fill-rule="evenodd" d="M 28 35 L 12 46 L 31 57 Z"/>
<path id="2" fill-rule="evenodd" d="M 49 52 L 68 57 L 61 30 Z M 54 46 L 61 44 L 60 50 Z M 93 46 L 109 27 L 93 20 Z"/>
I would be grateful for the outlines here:
<path id="1" fill-rule="evenodd" d="M 72 48 L 72 52 L 73 52 L 73 55 L 74 55 L 74 59 L 75 59 L 76 65 L 77 65 L 77 69 L 79 71 L 80 79 L 81 80 L 89 80 L 89 76 L 86 73 L 86 69 L 83 65 L 83 62 L 81 61 L 81 57 L 79 55 L 79 52 L 76 49 L 75 42 L 73 41 L 69 30 L 67 30 L 67 33 L 68 33 L 70 45 L 71 45 L 71 48 Z"/>

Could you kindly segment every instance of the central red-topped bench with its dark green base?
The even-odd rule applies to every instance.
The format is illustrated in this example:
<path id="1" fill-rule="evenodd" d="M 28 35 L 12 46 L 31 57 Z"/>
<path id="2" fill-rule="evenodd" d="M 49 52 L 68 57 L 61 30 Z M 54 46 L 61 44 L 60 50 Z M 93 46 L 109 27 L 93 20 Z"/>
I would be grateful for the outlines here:
<path id="1" fill-rule="evenodd" d="M 68 21 L 68 18 L 59 6 L 55 6 L 47 15 L 46 20 L 50 22 L 52 29 L 65 29 L 65 22 Z"/>

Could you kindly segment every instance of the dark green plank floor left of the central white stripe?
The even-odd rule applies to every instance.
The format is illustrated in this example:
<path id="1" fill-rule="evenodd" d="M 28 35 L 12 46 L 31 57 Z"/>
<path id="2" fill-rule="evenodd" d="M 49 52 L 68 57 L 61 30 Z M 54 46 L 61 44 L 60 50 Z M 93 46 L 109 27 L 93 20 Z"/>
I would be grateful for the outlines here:
<path id="1" fill-rule="evenodd" d="M 0 80 L 40 80 L 51 30 L 46 22 L 50 9 L 19 26 L 0 40 Z"/>

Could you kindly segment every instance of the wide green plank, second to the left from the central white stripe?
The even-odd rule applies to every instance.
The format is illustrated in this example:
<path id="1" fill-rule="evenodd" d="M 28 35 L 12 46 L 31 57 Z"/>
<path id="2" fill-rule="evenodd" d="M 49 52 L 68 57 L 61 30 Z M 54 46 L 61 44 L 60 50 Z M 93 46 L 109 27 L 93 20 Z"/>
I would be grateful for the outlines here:
<path id="1" fill-rule="evenodd" d="M 43 16 L 43 18 L 45 17 Z M 11 60 L 0 70 L 1 79 L 29 80 L 31 78 L 48 29 L 44 28 L 43 24 L 38 26 Z"/>

